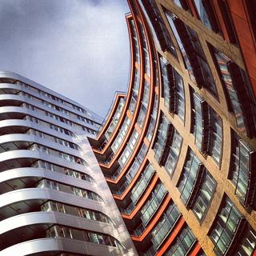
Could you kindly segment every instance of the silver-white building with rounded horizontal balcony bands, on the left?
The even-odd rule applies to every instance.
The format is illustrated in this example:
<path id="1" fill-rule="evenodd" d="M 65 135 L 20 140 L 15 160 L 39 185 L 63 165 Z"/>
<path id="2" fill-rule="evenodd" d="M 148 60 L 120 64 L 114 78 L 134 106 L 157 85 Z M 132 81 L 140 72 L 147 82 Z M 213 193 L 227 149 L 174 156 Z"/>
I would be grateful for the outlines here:
<path id="1" fill-rule="evenodd" d="M 138 255 L 88 138 L 102 118 L 0 73 L 0 255 Z"/>

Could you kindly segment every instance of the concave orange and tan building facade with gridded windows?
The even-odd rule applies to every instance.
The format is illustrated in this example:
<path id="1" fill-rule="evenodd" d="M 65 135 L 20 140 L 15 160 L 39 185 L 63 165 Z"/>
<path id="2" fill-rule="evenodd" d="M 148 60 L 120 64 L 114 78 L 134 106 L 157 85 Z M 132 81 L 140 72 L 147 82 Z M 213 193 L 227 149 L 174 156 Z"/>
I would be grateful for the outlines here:
<path id="1" fill-rule="evenodd" d="M 128 3 L 129 89 L 90 143 L 138 254 L 255 256 L 255 2 Z"/>

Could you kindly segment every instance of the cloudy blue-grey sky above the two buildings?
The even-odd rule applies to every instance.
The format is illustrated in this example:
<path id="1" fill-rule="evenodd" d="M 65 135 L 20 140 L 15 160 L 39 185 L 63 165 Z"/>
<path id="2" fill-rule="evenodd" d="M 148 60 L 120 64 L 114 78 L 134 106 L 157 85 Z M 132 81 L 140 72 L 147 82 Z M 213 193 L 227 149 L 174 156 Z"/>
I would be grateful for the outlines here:
<path id="1" fill-rule="evenodd" d="M 0 70 L 49 87 L 103 118 L 126 91 L 126 0 L 0 0 Z"/>

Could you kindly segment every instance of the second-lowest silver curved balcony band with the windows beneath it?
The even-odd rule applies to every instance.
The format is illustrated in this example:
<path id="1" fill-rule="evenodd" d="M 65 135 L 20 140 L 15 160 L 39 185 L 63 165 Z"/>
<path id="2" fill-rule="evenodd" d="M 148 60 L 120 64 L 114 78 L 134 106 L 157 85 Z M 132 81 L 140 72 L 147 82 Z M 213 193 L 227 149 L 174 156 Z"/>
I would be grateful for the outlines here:
<path id="1" fill-rule="evenodd" d="M 34 238 L 66 237 L 121 249 L 121 244 L 113 237 L 111 230 L 111 226 L 107 223 L 74 218 L 68 214 L 56 212 L 19 214 L 1 222 L 0 246 L 4 250 Z"/>

